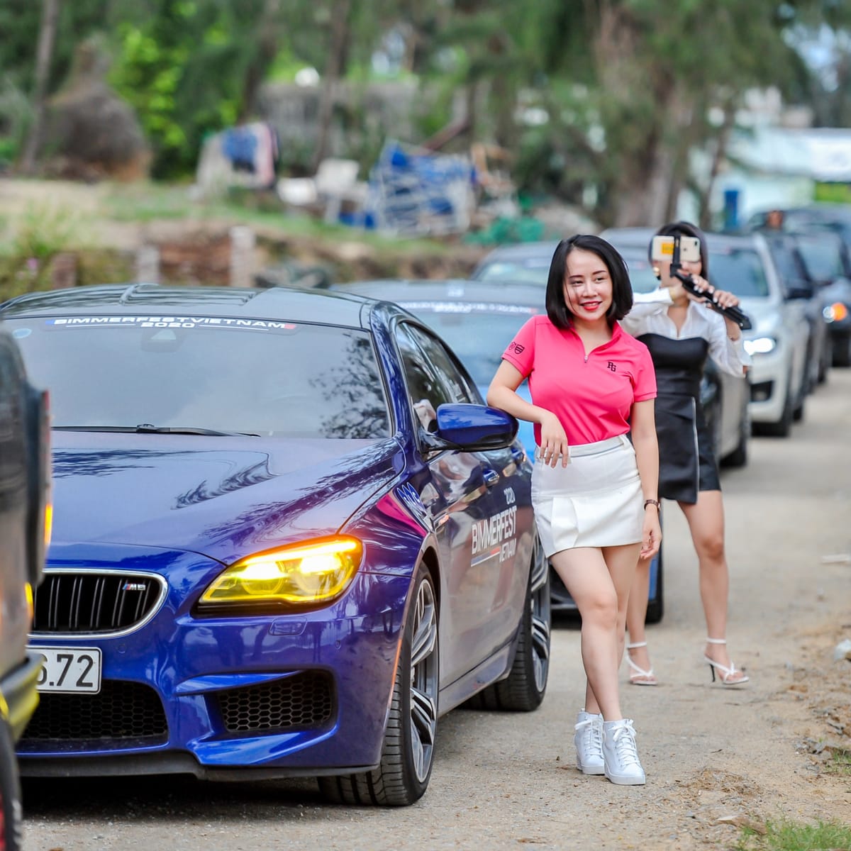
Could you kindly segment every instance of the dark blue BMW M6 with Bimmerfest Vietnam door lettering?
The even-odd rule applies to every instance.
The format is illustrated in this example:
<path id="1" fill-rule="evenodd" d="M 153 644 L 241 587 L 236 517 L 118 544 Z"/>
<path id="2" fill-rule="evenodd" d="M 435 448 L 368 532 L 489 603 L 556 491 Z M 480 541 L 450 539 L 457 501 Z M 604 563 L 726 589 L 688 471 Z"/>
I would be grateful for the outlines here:
<path id="1" fill-rule="evenodd" d="M 357 295 L 155 285 L 3 305 L 53 414 L 30 776 L 316 776 L 403 805 L 465 701 L 534 710 L 549 572 L 517 421 Z"/>

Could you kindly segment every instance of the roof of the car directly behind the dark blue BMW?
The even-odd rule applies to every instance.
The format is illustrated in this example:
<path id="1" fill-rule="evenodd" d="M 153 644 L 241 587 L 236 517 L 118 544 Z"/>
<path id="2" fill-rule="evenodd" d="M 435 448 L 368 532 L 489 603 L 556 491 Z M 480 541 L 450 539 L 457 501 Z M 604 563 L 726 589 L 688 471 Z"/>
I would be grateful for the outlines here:
<path id="1" fill-rule="evenodd" d="M 334 284 L 336 292 L 352 292 L 389 301 L 476 301 L 487 304 L 544 306 L 545 287 L 537 283 L 494 283 L 466 278 L 384 278 Z"/>

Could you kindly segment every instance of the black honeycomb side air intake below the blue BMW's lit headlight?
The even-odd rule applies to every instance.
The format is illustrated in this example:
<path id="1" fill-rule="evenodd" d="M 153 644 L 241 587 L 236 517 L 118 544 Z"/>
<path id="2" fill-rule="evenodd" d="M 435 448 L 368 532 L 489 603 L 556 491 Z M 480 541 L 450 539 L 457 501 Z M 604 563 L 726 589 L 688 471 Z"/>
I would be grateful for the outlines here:
<path id="1" fill-rule="evenodd" d="M 232 688 L 217 697 L 229 733 L 317 727 L 334 713 L 334 688 L 324 671 L 302 671 L 271 683 Z"/>

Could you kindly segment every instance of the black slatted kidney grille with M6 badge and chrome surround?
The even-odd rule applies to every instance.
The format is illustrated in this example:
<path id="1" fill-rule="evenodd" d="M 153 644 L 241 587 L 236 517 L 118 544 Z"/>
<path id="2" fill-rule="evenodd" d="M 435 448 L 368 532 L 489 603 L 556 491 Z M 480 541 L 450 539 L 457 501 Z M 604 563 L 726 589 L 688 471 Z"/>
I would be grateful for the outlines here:
<path id="1" fill-rule="evenodd" d="M 36 591 L 33 632 L 115 632 L 140 623 L 163 597 L 146 574 L 50 571 Z"/>

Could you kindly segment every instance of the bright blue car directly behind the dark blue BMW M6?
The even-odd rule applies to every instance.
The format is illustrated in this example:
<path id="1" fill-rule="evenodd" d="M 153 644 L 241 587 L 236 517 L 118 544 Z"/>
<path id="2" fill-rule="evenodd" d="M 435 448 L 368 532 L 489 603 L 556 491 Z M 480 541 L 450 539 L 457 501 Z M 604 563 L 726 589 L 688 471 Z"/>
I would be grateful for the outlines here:
<path id="1" fill-rule="evenodd" d="M 334 289 L 368 295 L 395 302 L 411 311 L 446 340 L 470 371 L 484 395 L 505 346 L 529 317 L 543 311 L 544 289 L 539 283 L 492 283 L 467 280 L 386 279 L 334 284 Z M 518 392 L 527 401 L 528 385 Z M 529 460 L 534 461 L 535 442 L 532 423 L 521 421 L 520 435 Z M 550 569 L 551 606 L 558 614 L 574 614 L 576 603 L 554 569 Z M 650 566 L 648 623 L 656 623 L 664 611 L 662 557 Z"/>

